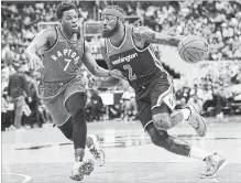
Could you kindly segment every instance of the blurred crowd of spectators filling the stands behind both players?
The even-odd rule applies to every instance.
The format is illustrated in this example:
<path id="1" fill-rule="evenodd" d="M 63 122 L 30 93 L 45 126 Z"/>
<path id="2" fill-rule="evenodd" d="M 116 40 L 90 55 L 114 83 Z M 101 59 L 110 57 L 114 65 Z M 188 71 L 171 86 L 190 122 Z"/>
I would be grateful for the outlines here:
<path id="1" fill-rule="evenodd" d="M 200 110 L 209 116 L 222 112 L 239 112 L 241 100 L 241 3 L 239 1 L 77 1 L 80 22 L 99 20 L 101 10 L 110 3 L 122 7 L 127 15 L 143 18 L 143 24 L 151 29 L 172 35 L 197 34 L 207 39 L 210 45 L 209 57 L 216 65 L 202 65 L 201 76 L 191 86 L 180 78 L 177 87 L 178 107 L 191 99 L 198 103 Z M 2 73 L 2 118 L 6 127 L 14 126 L 14 110 L 21 108 L 21 123 L 34 121 L 37 126 L 51 121 L 51 117 L 42 106 L 36 92 L 40 73 L 28 69 L 28 61 L 23 54 L 26 45 L 39 31 L 39 22 L 57 21 L 56 2 L 44 1 L 3 1 L 1 6 L 1 73 Z M 94 36 L 92 41 L 98 42 Z M 220 64 L 233 61 L 232 64 Z M 229 62 L 230 63 L 230 62 Z M 86 88 L 97 88 L 99 78 L 94 77 L 83 66 Z M 205 74 L 204 74 L 205 73 Z M 21 75 L 18 75 L 21 74 Z M 13 76 L 13 77 L 12 77 Z M 15 96 L 11 94 L 11 79 L 25 80 L 24 88 Z M 17 79 L 17 80 L 18 80 Z M 136 107 L 133 92 L 123 85 L 112 90 L 124 90 L 118 103 L 105 106 L 99 90 L 89 94 L 87 111 L 88 120 L 108 118 L 135 118 Z M 13 89 L 14 90 L 14 89 Z M 13 96 L 12 96 L 13 95 Z M 128 96 L 128 97 L 127 97 Z M 19 97 L 21 99 L 19 99 Z M 31 119 L 31 120 L 30 120 Z M 21 127 L 18 122 L 15 125 Z M 3 126 L 4 127 L 4 126 Z"/>

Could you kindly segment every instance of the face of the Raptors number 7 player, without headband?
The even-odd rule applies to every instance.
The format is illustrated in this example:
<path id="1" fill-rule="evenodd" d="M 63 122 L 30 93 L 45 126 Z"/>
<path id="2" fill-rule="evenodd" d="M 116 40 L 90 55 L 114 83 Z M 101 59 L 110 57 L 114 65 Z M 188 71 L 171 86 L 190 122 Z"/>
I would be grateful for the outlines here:
<path id="1" fill-rule="evenodd" d="M 67 10 L 63 13 L 62 25 L 69 32 L 78 31 L 78 14 L 75 9 Z"/>

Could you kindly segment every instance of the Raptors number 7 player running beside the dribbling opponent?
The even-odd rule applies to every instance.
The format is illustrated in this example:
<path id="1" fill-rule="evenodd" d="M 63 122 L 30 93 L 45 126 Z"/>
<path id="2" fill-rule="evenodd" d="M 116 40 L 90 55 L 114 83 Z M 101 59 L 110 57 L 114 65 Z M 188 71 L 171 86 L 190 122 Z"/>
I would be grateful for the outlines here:
<path id="1" fill-rule="evenodd" d="M 102 69 L 91 56 L 90 49 L 79 31 L 75 4 L 59 3 L 56 15 L 59 26 L 40 32 L 28 46 L 25 54 L 30 60 L 30 68 L 41 68 L 39 92 L 54 123 L 67 139 L 74 141 L 76 162 L 70 177 L 79 181 L 84 179 L 84 173 L 90 173 L 94 165 L 92 161 L 83 160 L 86 142 L 94 157 L 100 161 L 100 165 L 105 162 L 97 137 L 86 137 L 86 92 L 80 66 L 85 64 L 91 74 L 99 77 L 114 76 L 114 71 Z"/>

